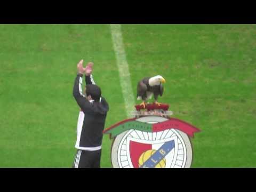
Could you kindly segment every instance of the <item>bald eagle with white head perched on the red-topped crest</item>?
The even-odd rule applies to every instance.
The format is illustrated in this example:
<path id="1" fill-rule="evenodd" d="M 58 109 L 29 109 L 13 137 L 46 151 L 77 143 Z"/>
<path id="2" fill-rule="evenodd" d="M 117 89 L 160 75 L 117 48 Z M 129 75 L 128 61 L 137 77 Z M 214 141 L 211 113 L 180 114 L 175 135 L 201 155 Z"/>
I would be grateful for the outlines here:
<path id="1" fill-rule="evenodd" d="M 157 102 L 158 95 L 162 97 L 164 92 L 163 84 L 165 83 L 165 79 L 161 75 L 157 75 L 154 77 L 145 77 L 141 81 L 139 81 L 137 86 L 137 100 L 143 100 L 140 104 L 144 108 L 145 102 L 148 99 L 151 99 L 152 94 L 154 94 L 155 103 L 160 105 Z"/>

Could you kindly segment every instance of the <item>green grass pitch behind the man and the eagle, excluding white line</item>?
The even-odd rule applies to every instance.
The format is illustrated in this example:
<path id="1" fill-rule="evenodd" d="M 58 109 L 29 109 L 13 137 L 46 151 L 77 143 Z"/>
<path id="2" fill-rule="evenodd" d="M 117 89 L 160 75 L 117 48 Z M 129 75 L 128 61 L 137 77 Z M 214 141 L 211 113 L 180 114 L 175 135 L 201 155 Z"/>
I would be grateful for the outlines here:
<path id="1" fill-rule="evenodd" d="M 145 76 L 166 79 L 160 102 L 201 129 L 192 167 L 256 167 L 256 25 L 122 25 L 134 98 Z M 0 167 L 71 167 L 79 60 L 110 111 L 126 118 L 109 25 L 0 25 Z M 138 101 L 135 101 L 138 103 Z M 101 166 L 111 167 L 108 135 Z"/>

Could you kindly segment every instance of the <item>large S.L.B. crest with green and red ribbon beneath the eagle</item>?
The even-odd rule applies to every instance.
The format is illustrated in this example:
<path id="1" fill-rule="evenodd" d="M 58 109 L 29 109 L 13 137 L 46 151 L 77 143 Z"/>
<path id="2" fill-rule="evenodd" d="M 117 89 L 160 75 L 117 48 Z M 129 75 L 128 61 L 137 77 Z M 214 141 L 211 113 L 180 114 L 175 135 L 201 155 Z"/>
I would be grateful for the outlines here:
<path id="1" fill-rule="evenodd" d="M 135 106 L 135 117 L 104 131 L 114 138 L 111 162 L 116 168 L 184 168 L 192 162 L 189 137 L 199 132 L 195 126 L 171 118 L 168 105 Z"/>

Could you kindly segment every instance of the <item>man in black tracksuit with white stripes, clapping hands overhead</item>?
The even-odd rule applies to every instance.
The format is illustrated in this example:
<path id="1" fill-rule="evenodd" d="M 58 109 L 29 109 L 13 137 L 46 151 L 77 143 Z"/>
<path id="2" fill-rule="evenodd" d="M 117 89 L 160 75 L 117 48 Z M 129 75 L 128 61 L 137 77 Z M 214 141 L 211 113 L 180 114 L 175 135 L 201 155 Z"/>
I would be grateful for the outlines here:
<path id="1" fill-rule="evenodd" d="M 100 87 L 95 85 L 92 73 L 93 63 L 83 68 L 83 60 L 78 65 L 73 96 L 81 108 L 77 123 L 77 148 L 73 167 L 100 167 L 101 143 L 108 103 L 101 97 Z M 85 74 L 86 95 L 82 92 L 83 74 Z"/>

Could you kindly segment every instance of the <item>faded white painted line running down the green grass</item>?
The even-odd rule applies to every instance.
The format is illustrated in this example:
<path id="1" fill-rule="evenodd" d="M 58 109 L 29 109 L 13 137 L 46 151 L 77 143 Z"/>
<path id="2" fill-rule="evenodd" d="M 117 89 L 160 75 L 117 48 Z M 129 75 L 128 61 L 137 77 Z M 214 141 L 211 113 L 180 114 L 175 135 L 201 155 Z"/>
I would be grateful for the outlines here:
<path id="1" fill-rule="evenodd" d="M 134 97 L 130 79 L 129 66 L 124 51 L 121 25 L 110 25 L 112 41 L 116 54 L 116 63 L 119 70 L 119 79 L 122 87 L 122 93 L 125 102 L 126 115 L 134 110 Z"/>

